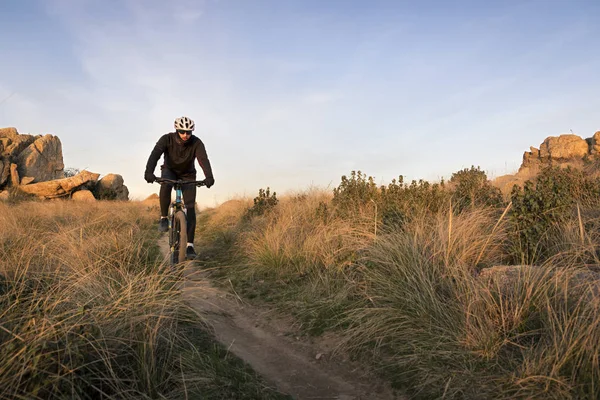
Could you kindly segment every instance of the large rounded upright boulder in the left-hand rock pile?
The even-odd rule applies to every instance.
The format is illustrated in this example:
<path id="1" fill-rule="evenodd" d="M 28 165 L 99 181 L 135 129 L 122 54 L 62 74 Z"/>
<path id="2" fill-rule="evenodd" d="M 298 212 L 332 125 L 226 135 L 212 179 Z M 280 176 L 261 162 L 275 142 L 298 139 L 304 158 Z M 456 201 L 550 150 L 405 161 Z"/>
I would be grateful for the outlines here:
<path id="1" fill-rule="evenodd" d="M 31 176 L 38 182 L 64 177 L 62 145 L 53 135 L 38 137 L 17 158 L 20 176 Z"/>

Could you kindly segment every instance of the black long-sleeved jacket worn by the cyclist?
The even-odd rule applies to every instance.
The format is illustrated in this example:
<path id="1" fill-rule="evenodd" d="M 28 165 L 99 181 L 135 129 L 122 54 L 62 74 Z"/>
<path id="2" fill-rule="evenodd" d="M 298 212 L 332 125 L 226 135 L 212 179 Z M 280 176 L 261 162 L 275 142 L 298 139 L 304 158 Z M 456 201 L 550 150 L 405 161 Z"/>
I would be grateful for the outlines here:
<path id="1" fill-rule="evenodd" d="M 146 173 L 154 173 L 156 163 L 163 154 L 165 155 L 163 167 L 172 170 L 177 175 L 195 174 L 194 159 L 197 159 L 204 172 L 204 177 L 214 179 L 204 143 L 194 135 L 187 142 L 181 140 L 176 132 L 161 136 L 150 153 L 146 163 Z"/>

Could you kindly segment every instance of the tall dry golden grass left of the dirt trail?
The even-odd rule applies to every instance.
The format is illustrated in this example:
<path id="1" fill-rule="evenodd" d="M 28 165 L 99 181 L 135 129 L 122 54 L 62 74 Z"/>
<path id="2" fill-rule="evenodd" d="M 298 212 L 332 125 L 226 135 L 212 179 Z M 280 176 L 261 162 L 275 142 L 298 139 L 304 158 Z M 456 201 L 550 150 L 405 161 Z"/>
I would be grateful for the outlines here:
<path id="1" fill-rule="evenodd" d="M 0 398 L 277 397 L 223 361 L 161 264 L 154 218 L 136 203 L 0 204 Z"/>

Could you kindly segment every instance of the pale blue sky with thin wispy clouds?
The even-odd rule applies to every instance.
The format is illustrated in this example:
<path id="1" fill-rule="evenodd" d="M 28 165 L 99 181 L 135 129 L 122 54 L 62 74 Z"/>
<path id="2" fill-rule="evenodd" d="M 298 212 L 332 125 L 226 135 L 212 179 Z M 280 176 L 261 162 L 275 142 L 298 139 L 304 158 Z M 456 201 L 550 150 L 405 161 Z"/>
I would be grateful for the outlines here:
<path id="1" fill-rule="evenodd" d="M 58 135 L 67 167 L 144 198 L 150 151 L 190 116 L 202 205 L 352 170 L 499 176 L 600 130 L 599 19 L 592 0 L 2 0 L 0 126 Z"/>

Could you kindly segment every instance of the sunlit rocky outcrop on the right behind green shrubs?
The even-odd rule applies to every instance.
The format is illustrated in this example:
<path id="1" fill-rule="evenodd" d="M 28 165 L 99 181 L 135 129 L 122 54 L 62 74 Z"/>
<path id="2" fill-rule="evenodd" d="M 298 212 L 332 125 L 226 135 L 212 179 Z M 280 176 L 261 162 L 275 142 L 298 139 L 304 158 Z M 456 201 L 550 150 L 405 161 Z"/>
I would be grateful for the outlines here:
<path id="1" fill-rule="evenodd" d="M 574 134 L 547 137 L 539 146 L 530 147 L 523 154 L 523 162 L 514 175 L 504 175 L 494 180 L 503 193 L 510 193 L 513 185 L 522 185 L 547 166 L 584 168 L 590 161 L 600 161 L 600 131 L 583 139 Z"/>

